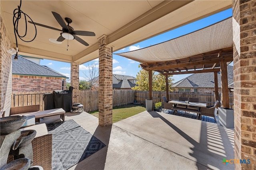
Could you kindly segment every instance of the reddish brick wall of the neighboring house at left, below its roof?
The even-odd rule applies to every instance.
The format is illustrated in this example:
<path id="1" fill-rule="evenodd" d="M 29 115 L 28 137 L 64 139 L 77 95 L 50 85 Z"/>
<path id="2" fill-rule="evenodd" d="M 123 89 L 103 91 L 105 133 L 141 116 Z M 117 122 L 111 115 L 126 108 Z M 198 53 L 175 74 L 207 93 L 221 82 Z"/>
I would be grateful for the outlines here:
<path id="1" fill-rule="evenodd" d="M 62 78 L 41 76 L 12 76 L 12 92 L 62 90 Z M 66 90 L 64 80 L 64 90 Z"/>

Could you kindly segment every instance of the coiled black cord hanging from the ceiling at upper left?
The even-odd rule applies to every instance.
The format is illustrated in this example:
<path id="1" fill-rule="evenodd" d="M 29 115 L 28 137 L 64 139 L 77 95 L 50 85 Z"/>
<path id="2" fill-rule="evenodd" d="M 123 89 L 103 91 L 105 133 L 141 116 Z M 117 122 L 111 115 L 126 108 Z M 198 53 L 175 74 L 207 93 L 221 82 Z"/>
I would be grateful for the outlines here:
<path id="1" fill-rule="evenodd" d="M 21 8 L 21 0 L 20 0 L 20 6 L 18 6 L 18 8 L 14 9 L 14 11 L 13 11 L 13 26 L 14 26 L 14 35 L 15 35 L 15 40 L 16 40 L 16 55 L 15 55 L 14 59 L 18 59 L 18 40 L 17 40 L 17 36 L 24 42 L 31 42 L 36 38 L 36 33 L 35 33 L 34 38 L 30 41 L 26 41 L 26 40 L 22 39 L 23 37 L 25 37 L 27 35 L 27 31 L 28 31 L 27 18 L 26 17 L 28 17 L 31 21 L 32 21 L 32 19 L 27 14 L 22 12 L 22 10 L 20 10 L 20 8 Z M 19 20 L 21 19 L 22 14 L 24 15 L 25 25 L 26 25 L 24 35 L 20 35 L 19 32 L 18 32 Z M 35 30 L 36 30 L 36 25 L 35 24 L 34 24 L 34 27 L 35 27 Z"/>

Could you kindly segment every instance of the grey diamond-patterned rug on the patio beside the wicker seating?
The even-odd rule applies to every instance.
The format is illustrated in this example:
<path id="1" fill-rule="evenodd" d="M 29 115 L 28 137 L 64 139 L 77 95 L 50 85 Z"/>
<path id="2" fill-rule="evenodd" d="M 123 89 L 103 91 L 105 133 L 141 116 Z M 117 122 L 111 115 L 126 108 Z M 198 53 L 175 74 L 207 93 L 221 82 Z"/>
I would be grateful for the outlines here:
<path id="1" fill-rule="evenodd" d="M 52 170 L 66 170 L 106 146 L 72 119 L 47 129 L 52 133 Z"/>

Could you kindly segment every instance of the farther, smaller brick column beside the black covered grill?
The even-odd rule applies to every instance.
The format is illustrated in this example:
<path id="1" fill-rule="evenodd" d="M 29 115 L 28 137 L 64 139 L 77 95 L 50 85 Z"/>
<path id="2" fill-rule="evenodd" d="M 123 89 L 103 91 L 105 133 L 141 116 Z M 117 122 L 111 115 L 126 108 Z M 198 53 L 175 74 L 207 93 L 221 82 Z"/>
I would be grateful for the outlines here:
<path id="1" fill-rule="evenodd" d="M 79 102 L 79 64 L 75 62 L 74 56 L 72 56 L 70 74 L 70 86 L 74 88 L 72 92 L 72 104 L 74 104 Z"/>

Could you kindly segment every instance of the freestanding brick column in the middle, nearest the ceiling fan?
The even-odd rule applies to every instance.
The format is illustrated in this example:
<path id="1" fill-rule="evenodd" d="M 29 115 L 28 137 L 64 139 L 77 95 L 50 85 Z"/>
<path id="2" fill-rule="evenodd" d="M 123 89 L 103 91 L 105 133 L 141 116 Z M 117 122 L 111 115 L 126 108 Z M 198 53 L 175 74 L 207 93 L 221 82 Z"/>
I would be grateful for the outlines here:
<path id="1" fill-rule="evenodd" d="M 112 124 L 112 47 L 107 46 L 107 37 L 99 39 L 99 125 Z"/>

